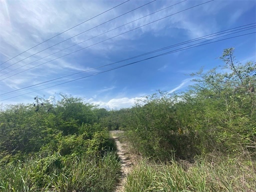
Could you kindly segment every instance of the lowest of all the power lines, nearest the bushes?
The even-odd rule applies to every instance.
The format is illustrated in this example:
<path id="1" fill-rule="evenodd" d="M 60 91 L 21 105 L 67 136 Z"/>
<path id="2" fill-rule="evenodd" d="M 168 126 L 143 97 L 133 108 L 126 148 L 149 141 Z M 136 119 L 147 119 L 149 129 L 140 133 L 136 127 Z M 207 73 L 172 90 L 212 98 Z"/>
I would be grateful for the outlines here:
<path id="1" fill-rule="evenodd" d="M 67 81 L 67 82 L 62 82 L 62 83 L 55 84 L 55 85 L 52 85 L 52 86 L 49 86 L 49 87 L 45 87 L 45 88 L 41 88 L 41 89 L 38 89 L 38 90 L 35 90 L 35 91 L 31 91 L 31 92 L 27 92 L 27 93 L 20 94 L 20 95 L 17 95 L 17 96 L 13 96 L 13 97 L 9 97 L 9 98 L 6 98 L 6 99 L 2 99 L 2 100 L 0 100 L 0 101 L 7 100 L 7 99 L 10 99 L 10 98 L 15 98 L 15 97 L 18 97 L 18 96 L 22 96 L 22 95 L 29 94 L 29 93 L 32 93 L 32 92 L 36 92 L 36 91 L 43 90 L 43 89 L 46 89 L 46 88 L 50 88 L 50 87 L 53 87 L 53 86 L 65 84 L 65 83 L 72 82 L 72 81 L 75 81 L 75 80 L 79 80 L 79 79 L 82 79 L 82 78 L 86 78 L 86 77 L 89 77 L 89 76 L 97 75 L 97 74 L 104 73 L 104 72 L 107 72 L 107 71 L 110 71 L 110 70 L 114 70 L 114 69 L 117 69 L 117 68 L 121 68 L 121 67 L 124 67 L 124 66 L 128 66 L 128 65 L 131 65 L 131 64 L 134 64 L 134 63 L 138 63 L 138 62 L 145 61 L 145 60 L 148 60 L 148 59 L 152 59 L 152 58 L 155 58 L 155 57 L 159 57 L 159 56 L 163 56 L 163 55 L 166 55 L 166 54 L 170 54 L 170 53 L 173 53 L 173 52 L 178 52 L 178 51 L 182 51 L 182 50 L 187 50 L 187 49 L 190 49 L 190 48 L 194 48 L 194 47 L 198 47 L 198 46 L 210 44 L 210 43 L 213 43 L 213 42 L 218 42 L 218 41 L 222 41 L 222 40 L 226 40 L 226 39 L 231 39 L 231 38 L 236 38 L 236 37 L 239 37 L 239 36 L 245 36 L 245 35 L 254 34 L 254 33 L 256 33 L 256 32 L 241 34 L 241 35 L 232 36 L 232 37 L 228 37 L 228 38 L 224 38 L 224 39 L 220 39 L 220 40 L 215 40 L 215 41 L 212 41 L 212 42 L 207 42 L 207 43 L 204 43 L 204 44 L 199 44 L 199 45 L 195 45 L 195 46 L 191 46 L 191 47 L 187 47 L 187 48 L 180 48 L 180 49 L 168 51 L 168 52 L 161 53 L 161 54 L 158 54 L 158 55 L 155 55 L 155 56 L 151 56 L 151 57 L 148 57 L 148 58 L 145 58 L 145 59 L 142 59 L 142 60 L 138 60 L 138 61 L 131 62 L 131 63 L 128 63 L 128 64 L 123 64 L 123 65 L 116 66 L 116 67 L 113 67 L 113 68 L 110 68 L 110 69 L 107 69 L 107 70 L 104 70 L 104 71 L 100 71 L 100 72 L 93 73 L 93 74 L 90 74 L 90 75 L 87 75 L 87 76 L 83 76 L 83 77 L 80 77 L 80 78 L 76 78 L 76 79 L 73 79 L 73 80 L 69 80 L 69 81 Z"/>

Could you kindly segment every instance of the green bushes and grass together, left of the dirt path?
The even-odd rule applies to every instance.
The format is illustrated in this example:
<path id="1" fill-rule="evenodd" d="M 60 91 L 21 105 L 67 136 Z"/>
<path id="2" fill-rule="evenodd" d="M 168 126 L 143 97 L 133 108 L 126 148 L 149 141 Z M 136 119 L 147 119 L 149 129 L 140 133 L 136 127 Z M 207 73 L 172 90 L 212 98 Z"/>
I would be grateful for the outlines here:
<path id="1" fill-rule="evenodd" d="M 120 163 L 98 121 L 106 110 L 61 96 L 0 112 L 0 191 L 113 191 Z"/>

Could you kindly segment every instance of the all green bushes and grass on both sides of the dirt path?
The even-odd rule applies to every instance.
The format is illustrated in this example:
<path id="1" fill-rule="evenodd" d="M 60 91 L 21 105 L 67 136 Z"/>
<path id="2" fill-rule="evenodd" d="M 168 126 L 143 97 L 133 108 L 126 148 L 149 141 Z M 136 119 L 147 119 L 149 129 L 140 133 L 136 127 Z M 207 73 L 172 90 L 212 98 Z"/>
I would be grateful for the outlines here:
<path id="1" fill-rule="evenodd" d="M 107 111 L 81 98 L 34 98 L 0 111 L 0 191 L 113 191 L 120 163 L 108 130 L 142 156 L 126 192 L 256 191 L 256 63 L 192 73 L 183 92 Z M 141 158 L 139 158 L 141 159 Z"/>

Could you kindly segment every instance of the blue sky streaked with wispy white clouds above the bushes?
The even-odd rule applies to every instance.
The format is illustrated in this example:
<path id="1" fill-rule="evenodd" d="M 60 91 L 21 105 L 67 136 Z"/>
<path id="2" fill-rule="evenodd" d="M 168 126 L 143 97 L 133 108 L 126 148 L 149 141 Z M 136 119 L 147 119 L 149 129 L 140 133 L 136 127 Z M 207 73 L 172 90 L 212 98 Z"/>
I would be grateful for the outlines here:
<path id="1" fill-rule="evenodd" d="M 0 0 L 0 103 L 59 99 L 61 92 L 119 109 L 158 89 L 183 91 L 193 83 L 187 74 L 223 64 L 224 48 L 234 47 L 237 61 L 255 61 L 255 22 L 255 0 Z"/>

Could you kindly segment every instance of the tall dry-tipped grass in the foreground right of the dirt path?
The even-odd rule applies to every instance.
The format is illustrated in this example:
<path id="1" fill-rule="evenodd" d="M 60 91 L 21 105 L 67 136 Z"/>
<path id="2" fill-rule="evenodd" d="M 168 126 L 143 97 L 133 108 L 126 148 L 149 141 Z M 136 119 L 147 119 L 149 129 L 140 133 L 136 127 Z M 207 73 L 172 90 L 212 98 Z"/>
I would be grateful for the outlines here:
<path id="1" fill-rule="evenodd" d="M 218 158 L 197 160 L 188 169 L 168 163 L 140 162 L 128 175 L 126 192 L 139 191 L 256 191 L 252 162 Z"/>

